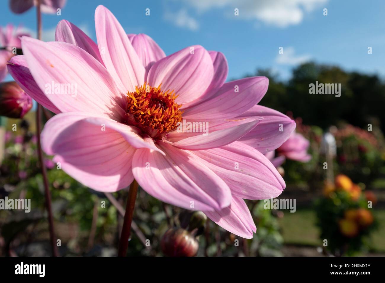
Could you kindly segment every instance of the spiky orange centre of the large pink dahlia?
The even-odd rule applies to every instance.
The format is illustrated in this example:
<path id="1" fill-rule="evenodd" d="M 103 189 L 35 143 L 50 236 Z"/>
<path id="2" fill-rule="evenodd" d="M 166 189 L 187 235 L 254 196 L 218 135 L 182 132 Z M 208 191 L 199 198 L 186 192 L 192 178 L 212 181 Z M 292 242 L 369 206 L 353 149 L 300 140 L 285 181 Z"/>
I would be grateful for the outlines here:
<path id="1" fill-rule="evenodd" d="M 145 82 L 134 92 L 127 92 L 128 124 L 136 126 L 153 139 L 161 139 L 177 128 L 182 121 L 182 111 L 174 90 L 163 92 L 160 84 L 151 87 Z"/>

